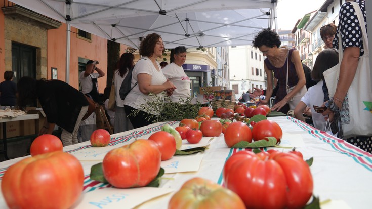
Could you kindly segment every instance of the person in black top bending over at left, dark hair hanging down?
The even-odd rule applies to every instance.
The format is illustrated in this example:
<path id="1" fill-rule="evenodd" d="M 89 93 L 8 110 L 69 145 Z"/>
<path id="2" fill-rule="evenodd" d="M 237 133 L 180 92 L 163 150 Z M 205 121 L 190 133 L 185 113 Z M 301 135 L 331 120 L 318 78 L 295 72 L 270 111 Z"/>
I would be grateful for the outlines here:
<path id="1" fill-rule="evenodd" d="M 77 144 L 77 130 L 88 111 L 87 98 L 77 89 L 61 80 L 35 80 L 22 77 L 17 83 L 20 109 L 33 104 L 36 99 L 46 115 L 39 135 L 52 134 L 55 125 L 61 127 L 63 146 Z"/>

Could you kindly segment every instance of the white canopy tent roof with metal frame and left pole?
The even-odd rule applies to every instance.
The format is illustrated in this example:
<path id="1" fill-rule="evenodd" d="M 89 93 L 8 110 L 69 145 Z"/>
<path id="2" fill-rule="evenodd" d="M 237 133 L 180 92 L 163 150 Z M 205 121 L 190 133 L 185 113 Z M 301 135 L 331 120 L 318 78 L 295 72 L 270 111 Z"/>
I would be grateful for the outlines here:
<path id="1" fill-rule="evenodd" d="M 66 82 L 70 27 L 138 48 L 156 32 L 166 48 L 250 45 L 273 28 L 276 0 L 12 0 L 67 24 Z M 277 24 L 275 24 L 277 25 Z"/>

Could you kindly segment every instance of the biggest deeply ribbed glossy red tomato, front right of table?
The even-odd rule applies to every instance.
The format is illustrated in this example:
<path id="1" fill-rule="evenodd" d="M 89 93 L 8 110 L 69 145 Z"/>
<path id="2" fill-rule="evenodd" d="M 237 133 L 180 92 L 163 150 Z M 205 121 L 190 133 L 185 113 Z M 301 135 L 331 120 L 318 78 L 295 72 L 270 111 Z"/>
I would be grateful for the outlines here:
<path id="1" fill-rule="evenodd" d="M 247 208 L 302 208 L 312 195 L 309 166 L 294 154 L 234 154 L 226 164 L 225 185 Z"/>

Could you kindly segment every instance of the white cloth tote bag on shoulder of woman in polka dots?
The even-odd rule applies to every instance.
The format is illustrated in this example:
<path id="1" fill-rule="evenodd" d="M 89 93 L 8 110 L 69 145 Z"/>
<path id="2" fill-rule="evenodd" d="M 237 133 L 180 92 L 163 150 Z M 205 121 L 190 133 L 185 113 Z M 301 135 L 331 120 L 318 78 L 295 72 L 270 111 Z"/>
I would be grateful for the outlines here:
<path id="1" fill-rule="evenodd" d="M 365 30 L 365 22 L 360 7 L 355 2 L 350 2 L 358 16 L 360 22 L 364 54 L 359 58 L 358 67 L 348 93 L 340 110 L 341 126 L 344 138 L 353 136 L 372 136 L 372 76 L 369 68 L 369 49 L 368 39 Z M 323 72 L 324 80 L 327 84 L 329 97 L 333 97 L 336 92 L 337 83 L 340 75 L 340 64 L 344 55 L 342 50 L 342 40 L 339 32 L 339 64 Z M 342 83 L 341 83 L 342 85 Z"/>

